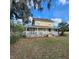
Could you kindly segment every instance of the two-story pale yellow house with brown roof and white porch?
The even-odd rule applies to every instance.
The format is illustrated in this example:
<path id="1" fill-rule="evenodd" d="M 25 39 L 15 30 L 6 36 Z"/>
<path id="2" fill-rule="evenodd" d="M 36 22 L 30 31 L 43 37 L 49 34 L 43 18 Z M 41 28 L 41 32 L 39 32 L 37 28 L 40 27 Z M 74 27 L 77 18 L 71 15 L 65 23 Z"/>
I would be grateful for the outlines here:
<path id="1" fill-rule="evenodd" d="M 27 37 L 44 37 L 52 33 L 53 21 L 49 19 L 33 18 L 32 25 L 26 26 Z"/>

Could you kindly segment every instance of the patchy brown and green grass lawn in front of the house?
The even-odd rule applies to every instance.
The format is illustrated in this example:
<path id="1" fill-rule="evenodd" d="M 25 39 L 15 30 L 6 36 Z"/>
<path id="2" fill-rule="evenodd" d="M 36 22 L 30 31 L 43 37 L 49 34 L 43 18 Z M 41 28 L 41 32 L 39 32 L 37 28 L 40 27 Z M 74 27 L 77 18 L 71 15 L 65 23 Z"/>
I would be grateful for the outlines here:
<path id="1" fill-rule="evenodd" d="M 68 35 L 21 39 L 11 45 L 11 59 L 69 59 L 68 39 Z"/>

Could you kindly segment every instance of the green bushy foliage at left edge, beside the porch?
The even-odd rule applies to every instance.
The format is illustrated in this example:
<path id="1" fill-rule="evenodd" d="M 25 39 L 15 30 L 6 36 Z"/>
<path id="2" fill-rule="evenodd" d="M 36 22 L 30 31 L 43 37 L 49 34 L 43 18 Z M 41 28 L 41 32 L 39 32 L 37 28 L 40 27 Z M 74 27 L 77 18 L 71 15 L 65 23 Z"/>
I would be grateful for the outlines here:
<path id="1" fill-rule="evenodd" d="M 22 38 L 24 27 L 21 24 L 14 24 L 13 22 L 11 22 L 10 28 L 10 43 L 13 44 L 20 38 Z"/>

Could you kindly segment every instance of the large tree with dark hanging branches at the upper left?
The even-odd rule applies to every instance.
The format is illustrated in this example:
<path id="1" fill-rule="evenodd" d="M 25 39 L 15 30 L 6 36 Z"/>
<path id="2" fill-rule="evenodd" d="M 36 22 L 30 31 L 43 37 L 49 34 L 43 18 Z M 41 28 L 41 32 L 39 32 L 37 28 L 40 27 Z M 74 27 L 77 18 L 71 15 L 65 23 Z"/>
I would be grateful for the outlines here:
<path id="1" fill-rule="evenodd" d="M 15 14 L 16 19 L 22 18 L 25 22 L 26 18 L 28 19 L 28 17 L 31 16 L 30 10 L 32 8 L 39 11 L 43 10 L 41 2 L 48 2 L 47 7 L 50 9 L 51 0 L 11 0 L 10 18 L 12 18 L 12 14 Z"/>

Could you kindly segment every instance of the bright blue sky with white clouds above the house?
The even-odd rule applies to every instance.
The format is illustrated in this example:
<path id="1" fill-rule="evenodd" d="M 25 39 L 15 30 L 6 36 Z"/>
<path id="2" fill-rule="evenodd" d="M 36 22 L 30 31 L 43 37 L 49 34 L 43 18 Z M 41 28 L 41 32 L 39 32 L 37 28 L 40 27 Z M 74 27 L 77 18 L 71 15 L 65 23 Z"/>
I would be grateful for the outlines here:
<path id="1" fill-rule="evenodd" d="M 43 11 L 31 10 L 34 18 L 47 18 L 53 21 L 69 21 L 69 0 L 52 0 L 50 10 L 48 10 L 47 2 L 42 2 Z"/>

